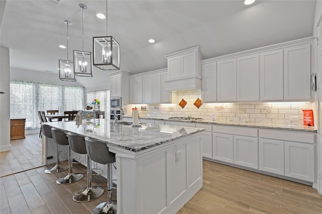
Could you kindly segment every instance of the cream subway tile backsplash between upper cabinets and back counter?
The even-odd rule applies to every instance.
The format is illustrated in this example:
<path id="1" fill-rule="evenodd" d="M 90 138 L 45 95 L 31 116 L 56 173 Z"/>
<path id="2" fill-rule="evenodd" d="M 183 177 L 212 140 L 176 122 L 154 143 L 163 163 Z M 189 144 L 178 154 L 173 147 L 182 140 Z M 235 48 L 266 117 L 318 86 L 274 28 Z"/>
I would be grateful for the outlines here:
<path id="1" fill-rule="evenodd" d="M 198 109 L 194 106 L 196 99 L 201 99 L 201 92 L 192 90 L 177 93 L 177 104 L 142 104 L 146 110 L 141 110 L 140 105 L 128 105 L 127 112 L 135 106 L 139 115 L 144 118 L 169 118 L 169 117 L 200 117 L 211 119 L 210 114 L 215 113 L 216 120 L 240 121 L 241 115 L 246 115 L 249 122 L 270 124 L 303 124 L 302 109 L 312 109 L 311 102 L 274 102 L 274 103 L 203 103 Z M 185 99 L 185 108 L 179 102 Z M 202 99 L 201 99 L 202 101 Z M 131 116 L 131 115 L 128 115 Z M 290 121 L 290 116 L 298 116 L 298 120 Z"/>

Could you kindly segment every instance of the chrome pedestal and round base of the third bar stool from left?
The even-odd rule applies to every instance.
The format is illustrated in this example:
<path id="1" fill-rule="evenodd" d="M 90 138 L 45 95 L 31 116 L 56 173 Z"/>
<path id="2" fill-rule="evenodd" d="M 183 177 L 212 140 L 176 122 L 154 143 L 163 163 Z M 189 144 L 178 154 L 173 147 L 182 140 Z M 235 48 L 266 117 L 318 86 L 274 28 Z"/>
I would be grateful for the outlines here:
<path id="1" fill-rule="evenodd" d="M 100 197 L 104 193 L 102 186 L 92 186 L 92 160 L 87 160 L 87 187 L 74 193 L 72 199 L 77 202 L 88 202 Z"/>

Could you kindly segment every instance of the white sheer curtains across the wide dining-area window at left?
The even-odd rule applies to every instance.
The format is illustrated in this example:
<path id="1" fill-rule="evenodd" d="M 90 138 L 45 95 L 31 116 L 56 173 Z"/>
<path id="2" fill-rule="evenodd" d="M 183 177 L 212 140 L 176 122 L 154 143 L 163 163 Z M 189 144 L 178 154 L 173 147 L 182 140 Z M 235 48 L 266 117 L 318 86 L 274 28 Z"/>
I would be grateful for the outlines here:
<path id="1" fill-rule="evenodd" d="M 82 110 L 83 103 L 82 87 L 10 82 L 10 117 L 26 118 L 26 129 L 40 128 L 37 111 Z"/>

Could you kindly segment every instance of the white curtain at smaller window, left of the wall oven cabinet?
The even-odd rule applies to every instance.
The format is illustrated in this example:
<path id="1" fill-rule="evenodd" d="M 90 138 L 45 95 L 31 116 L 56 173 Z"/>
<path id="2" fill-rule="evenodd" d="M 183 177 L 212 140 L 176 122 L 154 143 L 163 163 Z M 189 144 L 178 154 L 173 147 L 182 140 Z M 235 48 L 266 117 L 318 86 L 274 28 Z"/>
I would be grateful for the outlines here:
<path id="1" fill-rule="evenodd" d="M 93 91 L 86 93 L 87 103 L 92 103 L 94 99 L 100 101 L 100 111 L 105 111 L 105 118 L 110 113 L 110 90 Z"/>

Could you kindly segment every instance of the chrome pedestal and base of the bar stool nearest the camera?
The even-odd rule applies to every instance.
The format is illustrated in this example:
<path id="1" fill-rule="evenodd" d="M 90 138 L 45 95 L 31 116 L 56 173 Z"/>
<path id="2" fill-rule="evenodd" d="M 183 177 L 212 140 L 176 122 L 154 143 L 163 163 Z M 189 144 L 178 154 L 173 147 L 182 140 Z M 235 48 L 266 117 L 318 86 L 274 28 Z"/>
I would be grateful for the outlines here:
<path id="1" fill-rule="evenodd" d="M 107 201 L 100 203 L 97 205 L 92 214 L 101 214 L 101 213 L 109 213 L 116 214 L 116 204 L 112 201 L 112 185 L 113 185 L 113 177 L 112 177 L 112 164 L 107 164 Z"/>

